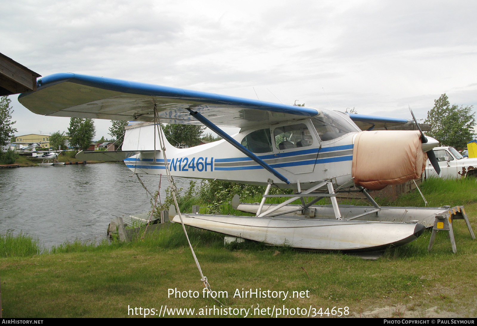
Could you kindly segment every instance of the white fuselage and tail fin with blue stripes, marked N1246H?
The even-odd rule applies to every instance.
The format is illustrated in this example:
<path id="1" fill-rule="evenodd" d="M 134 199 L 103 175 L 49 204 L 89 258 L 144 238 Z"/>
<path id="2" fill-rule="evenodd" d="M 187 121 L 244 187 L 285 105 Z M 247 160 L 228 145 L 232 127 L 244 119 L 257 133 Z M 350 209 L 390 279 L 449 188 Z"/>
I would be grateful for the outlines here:
<path id="1" fill-rule="evenodd" d="M 125 133 L 123 150 L 154 149 L 154 124 L 134 128 Z M 231 182 L 266 185 L 269 179 L 280 187 L 307 189 L 318 182 L 332 180 L 335 185 L 353 184 L 351 167 L 353 138 L 359 129 L 335 133 L 322 140 L 311 119 L 255 127 L 232 137 L 261 160 L 285 176 L 290 184 L 280 181 L 258 163 L 225 140 L 191 148 L 175 148 L 166 143 L 166 157 L 173 176 L 218 179 Z M 141 153 L 124 162 L 136 173 L 165 174 L 163 152 L 156 136 L 154 153 Z"/>

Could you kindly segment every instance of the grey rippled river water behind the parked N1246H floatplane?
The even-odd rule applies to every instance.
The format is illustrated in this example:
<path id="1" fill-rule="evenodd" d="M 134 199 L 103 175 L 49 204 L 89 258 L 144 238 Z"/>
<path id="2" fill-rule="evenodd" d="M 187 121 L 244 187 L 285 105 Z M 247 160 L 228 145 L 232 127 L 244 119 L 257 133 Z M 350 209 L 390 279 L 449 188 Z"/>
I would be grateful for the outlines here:
<path id="1" fill-rule="evenodd" d="M 46 247 L 106 237 L 116 216 L 151 209 L 135 175 L 123 162 L 0 169 L 0 234 L 30 234 Z M 159 176 L 141 175 L 147 189 Z M 175 178 L 187 189 L 188 179 Z M 169 185 L 162 176 L 161 198 Z"/>

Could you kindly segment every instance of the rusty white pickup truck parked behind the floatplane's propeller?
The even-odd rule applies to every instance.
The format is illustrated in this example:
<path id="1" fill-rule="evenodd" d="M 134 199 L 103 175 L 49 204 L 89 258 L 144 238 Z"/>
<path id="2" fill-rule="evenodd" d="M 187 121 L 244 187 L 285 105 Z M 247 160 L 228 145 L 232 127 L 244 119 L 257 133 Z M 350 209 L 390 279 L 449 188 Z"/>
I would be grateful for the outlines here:
<path id="1" fill-rule="evenodd" d="M 454 147 L 434 147 L 443 178 L 460 179 L 477 177 L 477 158 L 465 158 Z M 425 177 L 437 176 L 436 170 L 427 160 Z"/>

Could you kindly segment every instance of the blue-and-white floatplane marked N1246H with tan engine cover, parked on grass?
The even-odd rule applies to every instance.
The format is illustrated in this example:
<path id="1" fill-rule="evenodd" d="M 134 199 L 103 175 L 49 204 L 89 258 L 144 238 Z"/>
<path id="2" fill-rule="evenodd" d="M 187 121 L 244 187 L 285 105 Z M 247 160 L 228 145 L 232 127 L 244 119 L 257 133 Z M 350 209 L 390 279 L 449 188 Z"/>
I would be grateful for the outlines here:
<path id="1" fill-rule="evenodd" d="M 373 130 L 406 119 L 73 73 L 43 77 L 37 84 L 37 91 L 19 96 L 32 112 L 138 122 L 126 127 L 123 151 L 117 152 L 134 173 L 162 174 L 167 168 L 178 177 L 266 186 L 260 203 L 240 203 L 238 196 L 232 201 L 255 216 L 182 214 L 187 225 L 270 245 L 375 251 L 415 240 L 448 209 L 380 207 L 368 194 L 420 178 L 427 157 L 439 172 L 435 139 L 420 130 Z M 183 149 L 167 141 L 161 146 L 160 123 L 202 123 L 223 139 Z M 221 127 L 240 131 L 230 136 Z M 269 194 L 271 187 L 296 192 L 281 204 L 266 204 L 276 196 Z M 339 192 L 361 192 L 371 205 L 339 205 Z M 331 205 L 314 205 L 326 197 Z M 301 204 L 291 204 L 295 200 Z"/>

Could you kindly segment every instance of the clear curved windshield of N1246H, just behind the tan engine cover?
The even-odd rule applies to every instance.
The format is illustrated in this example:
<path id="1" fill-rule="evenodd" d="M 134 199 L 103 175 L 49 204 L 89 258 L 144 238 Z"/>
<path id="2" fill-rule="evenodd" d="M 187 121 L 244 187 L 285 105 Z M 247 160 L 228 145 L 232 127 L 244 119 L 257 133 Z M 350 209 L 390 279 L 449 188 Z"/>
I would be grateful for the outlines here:
<path id="1" fill-rule="evenodd" d="M 311 122 L 323 142 L 341 137 L 348 132 L 360 131 L 346 118 L 328 110 L 322 110 L 319 115 L 311 118 Z"/>

